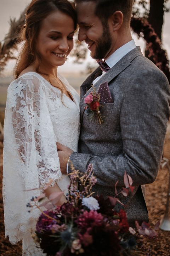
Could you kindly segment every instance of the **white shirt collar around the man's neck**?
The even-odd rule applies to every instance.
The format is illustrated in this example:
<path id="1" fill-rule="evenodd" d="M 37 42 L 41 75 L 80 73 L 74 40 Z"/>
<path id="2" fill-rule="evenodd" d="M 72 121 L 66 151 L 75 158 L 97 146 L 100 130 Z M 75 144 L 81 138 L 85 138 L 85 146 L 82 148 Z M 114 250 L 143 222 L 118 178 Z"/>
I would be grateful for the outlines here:
<path id="1" fill-rule="evenodd" d="M 117 49 L 114 53 L 112 53 L 105 62 L 107 65 L 112 68 L 121 58 L 123 58 L 127 53 L 136 48 L 136 44 L 134 39 L 130 42 L 124 44 L 119 49 Z"/>

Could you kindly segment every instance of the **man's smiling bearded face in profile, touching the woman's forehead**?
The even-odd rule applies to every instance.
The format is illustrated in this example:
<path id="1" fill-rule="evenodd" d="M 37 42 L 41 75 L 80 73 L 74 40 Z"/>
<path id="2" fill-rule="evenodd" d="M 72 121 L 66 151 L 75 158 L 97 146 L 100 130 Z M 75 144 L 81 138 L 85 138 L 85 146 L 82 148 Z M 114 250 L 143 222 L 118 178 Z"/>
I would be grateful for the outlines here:
<path id="1" fill-rule="evenodd" d="M 109 26 L 102 25 L 100 18 L 95 15 L 95 2 L 81 2 L 76 5 L 79 41 L 85 41 L 94 59 L 106 58 L 112 47 L 112 37 Z"/>

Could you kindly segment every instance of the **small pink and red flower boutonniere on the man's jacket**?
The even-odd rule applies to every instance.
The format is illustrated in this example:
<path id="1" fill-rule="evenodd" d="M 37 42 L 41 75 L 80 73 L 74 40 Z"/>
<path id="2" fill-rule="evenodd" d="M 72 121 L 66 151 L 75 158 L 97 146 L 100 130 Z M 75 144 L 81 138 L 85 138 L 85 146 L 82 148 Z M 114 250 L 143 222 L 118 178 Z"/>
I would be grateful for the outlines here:
<path id="1" fill-rule="evenodd" d="M 101 112 L 100 112 L 100 107 L 102 105 L 100 104 L 100 94 L 96 93 L 96 89 L 93 86 L 93 91 L 90 92 L 85 98 L 84 98 L 84 103 L 86 103 L 86 113 L 90 115 L 90 119 L 94 117 L 95 114 L 97 114 L 98 117 L 98 122 L 100 124 L 104 123 Z"/>

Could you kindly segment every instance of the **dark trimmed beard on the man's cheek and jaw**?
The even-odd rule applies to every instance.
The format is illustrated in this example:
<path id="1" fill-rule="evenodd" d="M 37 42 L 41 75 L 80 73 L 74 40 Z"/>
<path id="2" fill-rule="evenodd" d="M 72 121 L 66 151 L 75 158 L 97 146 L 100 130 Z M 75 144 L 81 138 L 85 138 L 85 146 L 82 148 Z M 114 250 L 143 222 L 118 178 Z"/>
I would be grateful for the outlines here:
<path id="1" fill-rule="evenodd" d="M 110 48 L 112 46 L 112 38 L 111 34 L 109 32 L 109 27 L 106 25 L 103 26 L 103 34 L 101 38 L 99 38 L 96 42 L 96 50 L 95 53 L 91 57 L 93 59 L 104 59 L 106 57 L 107 53 L 109 52 Z"/>

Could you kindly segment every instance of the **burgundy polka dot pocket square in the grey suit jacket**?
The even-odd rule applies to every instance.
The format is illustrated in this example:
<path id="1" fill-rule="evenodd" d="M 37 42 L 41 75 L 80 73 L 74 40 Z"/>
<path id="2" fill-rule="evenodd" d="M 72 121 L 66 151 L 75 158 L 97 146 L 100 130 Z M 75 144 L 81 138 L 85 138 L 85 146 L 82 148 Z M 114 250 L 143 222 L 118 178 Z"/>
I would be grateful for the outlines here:
<path id="1" fill-rule="evenodd" d="M 104 82 L 103 84 L 100 85 L 98 89 L 98 93 L 100 94 L 100 102 L 113 103 L 113 99 L 109 91 L 109 86 L 107 82 Z"/>

